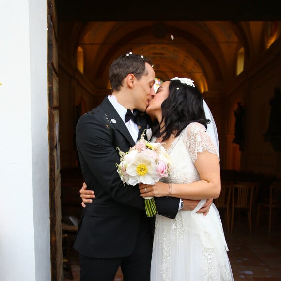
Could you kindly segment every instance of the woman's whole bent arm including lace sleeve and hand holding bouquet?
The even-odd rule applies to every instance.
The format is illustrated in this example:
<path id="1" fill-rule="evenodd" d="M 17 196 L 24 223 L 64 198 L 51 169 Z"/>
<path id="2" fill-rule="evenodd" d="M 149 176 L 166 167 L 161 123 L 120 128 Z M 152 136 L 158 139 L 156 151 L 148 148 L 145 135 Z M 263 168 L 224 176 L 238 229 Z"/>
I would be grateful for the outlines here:
<path id="1" fill-rule="evenodd" d="M 199 123 L 188 125 L 187 135 L 183 142 L 197 169 L 200 180 L 189 184 L 165 184 L 158 182 L 154 186 L 149 187 L 147 185 L 140 185 L 142 197 L 173 196 L 182 199 L 219 197 L 220 168 L 218 151 L 204 126 Z"/>

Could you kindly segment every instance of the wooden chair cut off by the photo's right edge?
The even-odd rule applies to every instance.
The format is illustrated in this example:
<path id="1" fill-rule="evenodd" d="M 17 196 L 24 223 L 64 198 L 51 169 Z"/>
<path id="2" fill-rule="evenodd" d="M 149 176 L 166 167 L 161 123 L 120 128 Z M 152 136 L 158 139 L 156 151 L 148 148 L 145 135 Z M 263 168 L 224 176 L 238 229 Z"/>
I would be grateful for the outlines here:
<path id="1" fill-rule="evenodd" d="M 257 225 L 259 224 L 261 208 L 268 209 L 268 232 L 270 233 L 272 211 L 278 211 L 278 209 L 281 210 L 281 182 L 272 183 L 270 185 L 269 198 L 267 198 L 265 202 L 258 204 Z"/>

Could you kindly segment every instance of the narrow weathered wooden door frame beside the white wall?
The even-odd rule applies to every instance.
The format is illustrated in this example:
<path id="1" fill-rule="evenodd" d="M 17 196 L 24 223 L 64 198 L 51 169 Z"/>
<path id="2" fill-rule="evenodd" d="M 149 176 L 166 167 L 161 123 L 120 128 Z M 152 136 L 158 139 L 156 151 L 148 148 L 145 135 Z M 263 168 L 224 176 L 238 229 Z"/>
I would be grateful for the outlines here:
<path id="1" fill-rule="evenodd" d="M 51 280 L 62 281 L 63 256 L 59 143 L 58 18 L 55 0 L 47 0 L 47 28 Z"/>

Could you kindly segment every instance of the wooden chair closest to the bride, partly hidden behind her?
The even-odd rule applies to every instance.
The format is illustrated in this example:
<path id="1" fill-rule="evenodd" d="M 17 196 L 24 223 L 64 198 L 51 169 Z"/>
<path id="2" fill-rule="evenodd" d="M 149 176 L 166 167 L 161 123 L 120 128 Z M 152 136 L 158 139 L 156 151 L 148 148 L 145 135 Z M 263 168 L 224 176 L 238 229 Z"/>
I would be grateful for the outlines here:
<path id="1" fill-rule="evenodd" d="M 219 197 L 214 199 L 214 204 L 217 209 L 219 211 L 221 209 L 224 210 L 224 220 L 227 231 L 229 231 L 231 190 L 231 184 L 221 184 Z"/>

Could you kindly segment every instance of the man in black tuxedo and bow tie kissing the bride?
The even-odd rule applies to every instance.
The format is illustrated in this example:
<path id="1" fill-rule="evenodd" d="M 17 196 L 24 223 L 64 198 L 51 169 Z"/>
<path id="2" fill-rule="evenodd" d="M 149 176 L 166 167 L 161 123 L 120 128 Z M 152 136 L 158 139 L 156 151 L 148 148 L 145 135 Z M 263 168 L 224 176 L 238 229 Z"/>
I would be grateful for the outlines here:
<path id="1" fill-rule="evenodd" d="M 152 220 L 146 217 L 139 188 L 124 186 L 118 175 L 116 148 L 128 151 L 147 128 L 150 119 L 141 112 L 155 95 L 155 72 L 148 58 L 128 53 L 113 61 L 109 80 L 111 95 L 81 116 L 76 128 L 83 177 L 95 192 L 83 210 L 74 243 L 80 281 L 112 281 L 119 266 L 124 281 L 149 281 Z M 159 214 L 175 218 L 180 199 L 155 201 Z"/>

